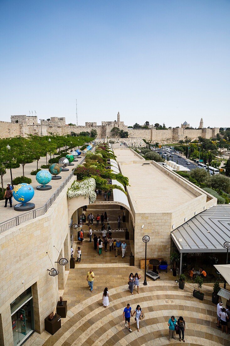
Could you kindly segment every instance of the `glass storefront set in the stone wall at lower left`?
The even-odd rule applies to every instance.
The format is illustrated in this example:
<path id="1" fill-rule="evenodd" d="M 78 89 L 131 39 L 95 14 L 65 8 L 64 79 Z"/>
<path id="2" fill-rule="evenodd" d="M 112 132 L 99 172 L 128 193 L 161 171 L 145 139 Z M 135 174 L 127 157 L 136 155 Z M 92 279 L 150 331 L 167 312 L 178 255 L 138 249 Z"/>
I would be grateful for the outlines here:
<path id="1" fill-rule="evenodd" d="M 35 330 L 31 287 L 10 304 L 13 345 L 20 345 Z"/>

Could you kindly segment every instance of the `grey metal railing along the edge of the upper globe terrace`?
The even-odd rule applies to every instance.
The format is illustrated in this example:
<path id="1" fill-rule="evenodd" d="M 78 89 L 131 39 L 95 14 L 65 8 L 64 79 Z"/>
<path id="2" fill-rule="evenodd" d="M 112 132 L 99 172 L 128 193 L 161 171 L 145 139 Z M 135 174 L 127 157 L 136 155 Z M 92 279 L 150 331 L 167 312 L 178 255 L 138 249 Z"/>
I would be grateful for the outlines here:
<path id="1" fill-rule="evenodd" d="M 77 166 L 82 164 L 85 161 L 85 157 L 82 158 L 80 162 L 78 162 Z M 77 168 L 75 167 L 75 169 Z M 52 196 L 49 198 L 49 200 L 44 204 L 43 207 L 33 209 L 25 214 L 21 214 L 19 216 L 13 217 L 12 219 L 9 219 L 7 221 L 4 221 L 0 224 L 0 233 L 18 226 L 22 224 L 25 221 L 31 220 L 31 219 L 36 219 L 37 217 L 44 215 L 47 210 L 51 207 L 52 203 L 56 200 L 56 198 L 59 196 L 60 192 L 64 189 L 66 184 L 70 181 L 72 176 L 74 175 L 75 169 L 69 174 L 69 176 L 66 178 L 66 180 L 59 186 L 59 188 L 52 194 Z"/>

